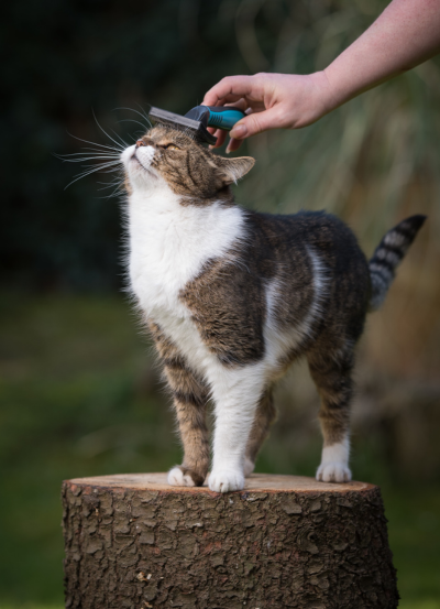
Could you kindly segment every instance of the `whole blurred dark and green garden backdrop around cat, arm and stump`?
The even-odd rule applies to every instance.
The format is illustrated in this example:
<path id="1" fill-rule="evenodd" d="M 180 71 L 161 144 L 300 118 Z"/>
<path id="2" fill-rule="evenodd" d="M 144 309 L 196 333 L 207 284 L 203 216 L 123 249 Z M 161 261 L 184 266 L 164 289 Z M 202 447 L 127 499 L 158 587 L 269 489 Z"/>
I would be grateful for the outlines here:
<path id="1" fill-rule="evenodd" d="M 112 176 L 64 189 L 79 167 L 55 154 L 81 151 L 75 138 L 111 145 L 97 121 L 131 143 L 148 104 L 185 113 L 226 75 L 322 69 L 384 6 L 26 0 L 2 9 L 1 609 L 63 603 L 62 479 L 165 470 L 179 459 L 168 399 L 122 293 L 120 203 L 101 189 Z M 243 154 L 256 165 L 235 189 L 254 209 L 326 208 L 369 254 L 405 216 L 429 216 L 369 319 L 353 407 L 353 474 L 382 486 L 407 609 L 440 607 L 439 108 L 436 58 L 315 126 L 252 139 Z M 301 365 L 277 402 L 257 470 L 312 476 L 318 400 Z"/>

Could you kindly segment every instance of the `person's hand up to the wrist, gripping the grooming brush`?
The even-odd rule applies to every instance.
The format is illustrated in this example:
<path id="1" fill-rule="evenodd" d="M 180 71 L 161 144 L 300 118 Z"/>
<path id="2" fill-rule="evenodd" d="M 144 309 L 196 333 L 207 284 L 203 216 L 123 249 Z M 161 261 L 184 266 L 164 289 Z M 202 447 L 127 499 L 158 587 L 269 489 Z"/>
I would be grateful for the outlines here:
<path id="1" fill-rule="evenodd" d="M 242 140 L 268 129 L 299 129 L 316 122 L 333 109 L 331 87 L 323 72 L 228 76 L 205 96 L 205 106 L 237 106 L 248 117 L 230 131 L 227 152 L 238 150 Z M 227 131 L 210 130 L 219 148 Z"/>

